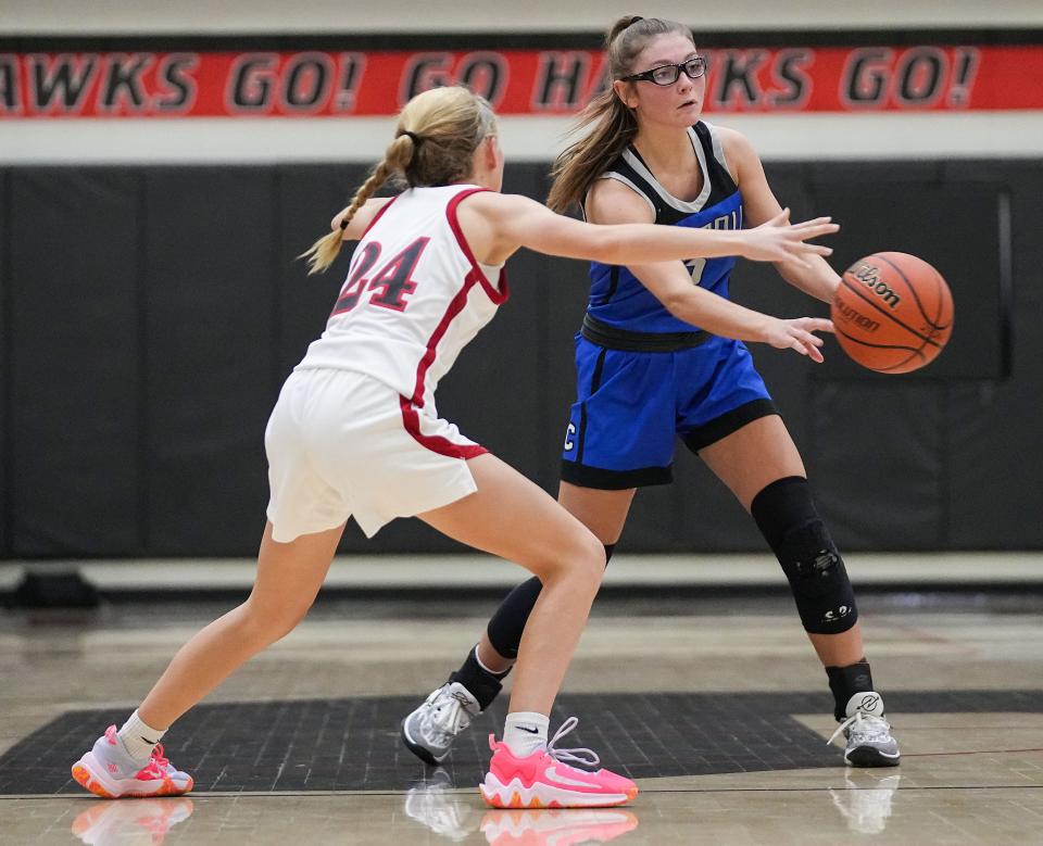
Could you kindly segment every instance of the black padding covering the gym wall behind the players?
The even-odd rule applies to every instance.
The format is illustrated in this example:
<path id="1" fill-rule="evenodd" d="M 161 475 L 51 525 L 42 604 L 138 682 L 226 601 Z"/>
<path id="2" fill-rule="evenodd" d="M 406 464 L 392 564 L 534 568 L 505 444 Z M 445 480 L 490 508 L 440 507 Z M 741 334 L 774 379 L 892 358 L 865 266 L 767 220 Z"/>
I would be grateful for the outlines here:
<path id="1" fill-rule="evenodd" d="M 359 165 L 0 168 L 0 557 L 252 556 L 263 432 L 323 329 L 351 250 L 324 277 L 294 255 Z M 754 346 L 842 550 L 1043 548 L 1043 167 L 1039 161 L 768 164 L 795 219 L 833 213 L 834 266 L 914 252 L 953 288 L 956 329 L 912 376 L 816 367 Z M 545 195 L 545 164 L 505 190 Z M 946 202 L 946 198 L 948 201 Z M 579 262 L 522 251 L 512 298 L 439 390 L 439 412 L 557 489 L 573 396 Z M 825 315 L 740 263 L 738 302 Z M 752 520 L 678 450 L 643 491 L 627 552 L 759 551 Z M 344 551 L 448 552 L 418 521 Z"/>

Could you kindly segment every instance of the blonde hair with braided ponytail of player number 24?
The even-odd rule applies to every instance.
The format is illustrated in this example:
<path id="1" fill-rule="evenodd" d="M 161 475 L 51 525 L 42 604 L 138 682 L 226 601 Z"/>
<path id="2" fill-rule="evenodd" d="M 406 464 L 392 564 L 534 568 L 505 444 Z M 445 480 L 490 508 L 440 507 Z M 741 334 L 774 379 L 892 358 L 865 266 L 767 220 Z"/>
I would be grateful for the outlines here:
<path id="1" fill-rule="evenodd" d="M 495 130 L 489 103 L 466 88 L 433 88 L 410 100 L 399 113 L 394 140 L 355 191 L 340 228 L 298 256 L 307 260 L 309 276 L 334 263 L 351 218 L 390 177 L 403 178 L 411 188 L 457 182 L 470 174 L 478 144 Z"/>

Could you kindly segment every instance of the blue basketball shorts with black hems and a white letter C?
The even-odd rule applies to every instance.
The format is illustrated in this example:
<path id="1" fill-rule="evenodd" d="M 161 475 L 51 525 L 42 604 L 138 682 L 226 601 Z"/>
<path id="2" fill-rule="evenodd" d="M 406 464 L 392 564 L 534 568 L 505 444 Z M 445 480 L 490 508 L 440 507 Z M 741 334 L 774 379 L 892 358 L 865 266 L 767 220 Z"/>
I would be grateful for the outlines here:
<path id="1" fill-rule="evenodd" d="M 623 490 L 674 480 L 676 439 L 692 452 L 778 414 L 741 341 L 675 352 L 611 350 L 576 336 L 577 399 L 562 480 Z"/>

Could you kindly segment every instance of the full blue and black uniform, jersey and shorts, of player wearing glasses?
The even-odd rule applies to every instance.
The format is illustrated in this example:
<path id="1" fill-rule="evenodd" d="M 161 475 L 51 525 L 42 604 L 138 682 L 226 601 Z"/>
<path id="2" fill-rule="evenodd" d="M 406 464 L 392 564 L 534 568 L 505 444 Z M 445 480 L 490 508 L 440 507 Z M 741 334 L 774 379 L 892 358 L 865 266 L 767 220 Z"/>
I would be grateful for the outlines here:
<path id="1" fill-rule="evenodd" d="M 632 147 L 604 174 L 632 188 L 655 223 L 742 227 L 742 198 L 709 124 L 688 130 L 703 173 L 691 202 L 671 197 Z M 728 296 L 736 258 L 686 262 L 693 285 Z M 745 344 L 679 320 L 626 267 L 591 263 L 590 303 L 576 336 L 576 402 L 562 480 L 621 490 L 666 484 L 678 439 L 692 451 L 778 414 Z"/>

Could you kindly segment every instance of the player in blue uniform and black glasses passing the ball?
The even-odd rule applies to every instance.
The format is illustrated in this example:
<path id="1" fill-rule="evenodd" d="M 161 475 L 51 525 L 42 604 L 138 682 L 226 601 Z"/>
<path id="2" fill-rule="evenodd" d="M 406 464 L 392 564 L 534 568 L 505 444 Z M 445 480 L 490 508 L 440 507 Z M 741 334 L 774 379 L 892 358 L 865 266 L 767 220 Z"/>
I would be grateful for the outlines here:
<path id="1" fill-rule="evenodd" d="M 757 226 L 780 212 L 750 142 L 700 119 L 706 65 L 688 27 L 624 17 L 606 52 L 612 86 L 555 165 L 552 209 L 579 205 L 599 224 L 711 229 Z M 611 557 L 637 489 L 669 483 L 683 442 L 750 512 L 782 566 L 833 694 L 840 725 L 830 740 L 845 735 L 850 766 L 895 766 L 844 563 L 743 341 L 781 344 L 769 318 L 728 300 L 734 264 L 592 263 L 558 501 Z M 840 282 L 820 256 L 776 267 L 825 302 Z M 512 591 L 461 668 L 403 721 L 403 741 L 420 758 L 442 760 L 492 702 L 540 590 L 533 578 Z"/>

